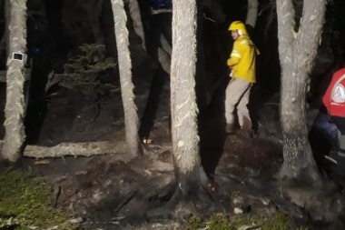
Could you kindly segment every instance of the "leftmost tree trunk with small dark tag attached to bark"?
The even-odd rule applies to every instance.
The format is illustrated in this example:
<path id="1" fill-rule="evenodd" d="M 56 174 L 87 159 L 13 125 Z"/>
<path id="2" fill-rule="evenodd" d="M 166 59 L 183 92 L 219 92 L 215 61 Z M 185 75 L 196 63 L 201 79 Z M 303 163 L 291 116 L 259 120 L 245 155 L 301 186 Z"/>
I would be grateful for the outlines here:
<path id="1" fill-rule="evenodd" d="M 2 157 L 15 162 L 25 141 L 24 83 L 26 53 L 26 0 L 11 1 L 5 105 L 5 144 Z"/>

